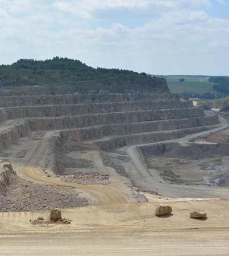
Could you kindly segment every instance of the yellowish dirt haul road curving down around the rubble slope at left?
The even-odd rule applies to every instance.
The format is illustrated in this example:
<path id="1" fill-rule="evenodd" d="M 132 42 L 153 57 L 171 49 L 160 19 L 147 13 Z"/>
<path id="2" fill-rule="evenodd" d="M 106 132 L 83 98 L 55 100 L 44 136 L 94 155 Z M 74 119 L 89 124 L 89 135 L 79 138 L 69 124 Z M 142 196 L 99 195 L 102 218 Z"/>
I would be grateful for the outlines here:
<path id="1" fill-rule="evenodd" d="M 55 135 L 56 131 L 48 132 L 44 138 L 40 139 L 34 150 L 30 152 L 28 158 L 24 159 L 24 162 L 17 163 L 16 160 L 13 162 L 15 170 L 18 172 L 20 177 L 26 180 L 55 184 L 65 187 L 76 188 L 87 197 L 89 205 L 109 205 L 109 204 L 124 204 L 130 203 L 131 191 L 121 187 L 120 184 L 110 185 L 82 185 L 76 183 L 68 183 L 59 179 L 58 177 L 47 177 L 41 170 L 41 166 L 44 166 L 45 155 L 50 154 L 49 138 Z M 101 168 L 110 168 L 102 164 L 100 155 L 94 156 L 94 161 L 99 162 Z M 112 169 L 112 168 L 110 168 Z M 112 169 L 113 171 L 113 169 Z M 111 171 L 110 171 L 111 172 Z M 129 191 L 128 191 L 129 190 Z"/>

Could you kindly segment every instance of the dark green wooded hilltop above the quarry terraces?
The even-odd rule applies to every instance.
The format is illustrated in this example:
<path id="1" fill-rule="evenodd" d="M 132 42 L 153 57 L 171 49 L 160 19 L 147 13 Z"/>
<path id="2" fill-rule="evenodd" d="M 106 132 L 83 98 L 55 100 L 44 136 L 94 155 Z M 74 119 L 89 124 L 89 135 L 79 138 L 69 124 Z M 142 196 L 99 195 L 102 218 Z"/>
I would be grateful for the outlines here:
<path id="1" fill-rule="evenodd" d="M 165 79 L 122 69 L 92 68 L 79 60 L 54 57 L 51 60 L 21 59 L 0 66 L 0 86 L 66 84 L 99 81 L 104 85 L 151 86 L 169 92 Z"/>

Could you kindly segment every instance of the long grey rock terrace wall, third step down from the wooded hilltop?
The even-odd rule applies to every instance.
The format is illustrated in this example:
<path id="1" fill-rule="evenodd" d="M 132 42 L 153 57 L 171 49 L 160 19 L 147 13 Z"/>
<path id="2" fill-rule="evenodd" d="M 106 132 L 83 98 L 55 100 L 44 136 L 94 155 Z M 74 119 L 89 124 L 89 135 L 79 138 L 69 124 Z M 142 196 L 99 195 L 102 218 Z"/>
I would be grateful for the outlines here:
<path id="1" fill-rule="evenodd" d="M 0 121 L 5 118 L 17 119 L 28 117 L 60 117 L 79 114 L 128 112 L 132 110 L 191 108 L 191 101 L 157 101 L 157 102 L 114 102 L 99 104 L 76 104 L 55 106 L 27 106 L 0 110 Z M 2 114 L 1 114 L 2 113 Z M 3 114 L 5 113 L 5 114 Z"/>

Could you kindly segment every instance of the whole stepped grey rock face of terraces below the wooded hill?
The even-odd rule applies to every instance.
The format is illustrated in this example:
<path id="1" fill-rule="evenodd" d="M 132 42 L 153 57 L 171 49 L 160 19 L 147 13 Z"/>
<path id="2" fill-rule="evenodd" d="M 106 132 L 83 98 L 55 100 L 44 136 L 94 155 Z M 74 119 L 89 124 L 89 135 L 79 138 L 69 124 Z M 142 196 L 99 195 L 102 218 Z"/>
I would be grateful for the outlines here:
<path id="1" fill-rule="evenodd" d="M 0 123 L 12 120 L 0 129 L 0 150 L 35 131 L 58 130 L 64 139 L 112 150 L 180 138 L 219 123 L 191 101 L 144 84 L 19 86 L 0 92 Z"/>

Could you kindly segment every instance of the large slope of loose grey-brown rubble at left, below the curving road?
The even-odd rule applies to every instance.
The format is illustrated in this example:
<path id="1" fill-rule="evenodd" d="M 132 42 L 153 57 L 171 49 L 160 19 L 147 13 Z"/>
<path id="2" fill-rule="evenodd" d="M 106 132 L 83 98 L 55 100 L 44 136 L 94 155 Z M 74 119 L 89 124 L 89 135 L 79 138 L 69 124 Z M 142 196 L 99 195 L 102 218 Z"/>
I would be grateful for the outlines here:
<path id="1" fill-rule="evenodd" d="M 6 196 L 0 194 L 0 212 L 30 212 L 87 205 L 88 200 L 76 189 L 32 183 L 15 175 L 10 175 Z"/>

